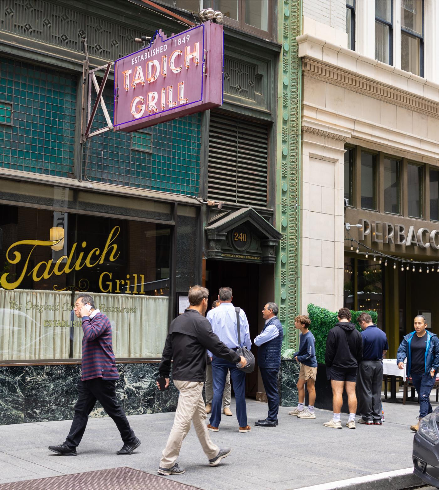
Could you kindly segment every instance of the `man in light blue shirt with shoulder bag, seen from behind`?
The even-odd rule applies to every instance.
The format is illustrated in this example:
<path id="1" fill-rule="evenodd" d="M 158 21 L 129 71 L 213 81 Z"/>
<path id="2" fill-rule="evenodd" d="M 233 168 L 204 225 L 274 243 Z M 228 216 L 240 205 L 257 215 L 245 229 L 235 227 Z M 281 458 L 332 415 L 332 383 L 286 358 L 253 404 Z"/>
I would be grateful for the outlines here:
<path id="1" fill-rule="evenodd" d="M 231 288 L 220 288 L 218 299 L 220 305 L 210 310 L 206 316 L 212 325 L 213 333 L 216 334 L 221 342 L 225 343 L 230 349 L 237 349 L 238 330 L 236 324 L 236 312 L 233 306 Z M 250 340 L 249 322 L 243 310 L 239 312 L 239 330 L 241 334 L 241 347 L 245 346 L 250 350 L 252 341 Z M 236 365 L 225 361 L 219 357 L 212 356 L 212 381 L 213 381 L 213 400 L 212 413 L 210 416 L 208 429 L 213 432 L 219 431 L 221 422 L 222 402 L 224 385 L 226 383 L 227 372 L 230 369 L 230 377 L 233 382 L 236 401 L 236 418 L 239 422 L 239 432 L 249 432 L 251 429 L 247 425 L 247 407 L 245 404 L 245 372 L 236 368 Z"/>

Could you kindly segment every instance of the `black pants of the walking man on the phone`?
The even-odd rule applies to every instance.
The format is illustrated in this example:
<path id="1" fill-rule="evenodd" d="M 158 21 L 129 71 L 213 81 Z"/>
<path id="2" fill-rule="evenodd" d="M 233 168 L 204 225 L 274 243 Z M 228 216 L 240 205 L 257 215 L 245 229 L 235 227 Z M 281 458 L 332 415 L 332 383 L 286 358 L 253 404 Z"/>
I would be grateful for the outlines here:
<path id="1" fill-rule="evenodd" d="M 76 447 L 81 442 L 85 428 L 87 427 L 89 414 L 93 410 L 96 400 L 99 400 L 105 412 L 116 422 L 122 441 L 125 444 L 134 442 L 136 436 L 116 397 L 116 381 L 102 378 L 79 381 L 78 392 L 79 396 L 75 404 L 75 416 L 66 439 L 68 446 Z"/>

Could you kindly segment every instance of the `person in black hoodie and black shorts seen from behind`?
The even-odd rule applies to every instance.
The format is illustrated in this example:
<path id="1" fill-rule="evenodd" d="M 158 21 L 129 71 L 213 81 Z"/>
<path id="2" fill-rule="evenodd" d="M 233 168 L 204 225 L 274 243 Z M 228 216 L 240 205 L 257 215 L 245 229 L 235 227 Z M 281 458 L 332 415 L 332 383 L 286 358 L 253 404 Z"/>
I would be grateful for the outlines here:
<path id="1" fill-rule="evenodd" d="M 349 418 L 346 426 L 355 429 L 355 414 L 357 412 L 357 397 L 355 382 L 357 380 L 358 364 L 363 358 L 363 340 L 355 324 L 350 322 L 351 314 L 348 308 L 338 311 L 338 323 L 328 332 L 326 339 L 326 374 L 331 380 L 332 409 L 334 415 L 325 427 L 341 429 L 340 412 L 343 405 L 343 388 L 347 392 Z"/>

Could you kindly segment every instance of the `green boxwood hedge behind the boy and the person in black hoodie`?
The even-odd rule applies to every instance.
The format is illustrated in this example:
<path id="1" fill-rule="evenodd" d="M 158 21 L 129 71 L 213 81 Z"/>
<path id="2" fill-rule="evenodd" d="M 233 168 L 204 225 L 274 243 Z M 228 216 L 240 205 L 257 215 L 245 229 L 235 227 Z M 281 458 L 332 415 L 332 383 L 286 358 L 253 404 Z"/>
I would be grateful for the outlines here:
<path id="1" fill-rule="evenodd" d="M 357 330 L 361 332 L 361 327 L 357 322 L 357 318 L 362 313 L 369 313 L 372 317 L 373 323 L 378 320 L 378 313 L 376 311 L 352 311 L 351 310 L 352 323 L 355 323 Z M 316 357 L 319 364 L 324 364 L 324 351 L 326 349 L 326 338 L 329 330 L 335 326 L 338 322 L 337 312 L 332 312 L 322 308 L 321 306 L 315 306 L 313 304 L 308 305 L 308 317 L 311 319 L 310 331 L 313 333 L 316 339 Z"/>

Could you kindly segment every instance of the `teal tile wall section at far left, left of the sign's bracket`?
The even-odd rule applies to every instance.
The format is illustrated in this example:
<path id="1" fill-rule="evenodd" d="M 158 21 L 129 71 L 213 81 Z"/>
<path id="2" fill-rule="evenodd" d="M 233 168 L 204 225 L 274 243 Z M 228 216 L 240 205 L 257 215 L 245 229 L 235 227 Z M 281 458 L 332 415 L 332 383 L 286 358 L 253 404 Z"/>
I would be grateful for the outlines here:
<path id="1" fill-rule="evenodd" d="M 73 175 L 76 76 L 0 58 L 0 100 L 12 125 L 0 123 L 0 167 Z"/>

